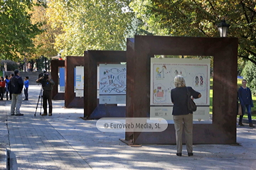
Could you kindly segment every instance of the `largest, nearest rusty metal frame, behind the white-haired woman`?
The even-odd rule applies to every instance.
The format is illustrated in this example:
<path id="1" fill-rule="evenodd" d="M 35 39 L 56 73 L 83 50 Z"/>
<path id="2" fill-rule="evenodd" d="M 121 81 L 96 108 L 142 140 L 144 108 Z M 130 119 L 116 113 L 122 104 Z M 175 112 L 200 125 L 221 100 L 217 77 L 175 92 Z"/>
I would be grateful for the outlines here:
<path id="1" fill-rule="evenodd" d="M 132 53 L 132 43 L 127 46 L 127 54 Z M 127 86 L 133 88 L 127 113 L 136 118 L 149 113 L 150 58 L 154 55 L 213 56 L 213 123 L 194 124 L 193 143 L 236 143 L 238 38 L 135 35 L 134 61 L 127 62 Z M 129 140 L 131 135 L 126 132 L 126 137 Z M 174 125 L 169 124 L 164 132 L 133 132 L 132 140 L 133 144 L 176 144 Z"/>

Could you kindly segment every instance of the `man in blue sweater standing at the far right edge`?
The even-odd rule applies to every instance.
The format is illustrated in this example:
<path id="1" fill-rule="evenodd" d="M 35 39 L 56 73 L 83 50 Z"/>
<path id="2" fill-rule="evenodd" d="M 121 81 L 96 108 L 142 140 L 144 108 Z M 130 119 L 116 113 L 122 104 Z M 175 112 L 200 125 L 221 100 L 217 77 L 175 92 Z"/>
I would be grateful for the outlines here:
<path id="1" fill-rule="evenodd" d="M 253 108 L 253 101 L 252 101 L 252 92 L 250 91 L 250 88 L 246 86 L 247 81 L 246 79 L 242 80 L 242 86 L 238 89 L 238 96 L 239 101 L 242 107 L 242 115 L 239 117 L 239 123 L 240 126 L 245 126 L 242 124 L 242 117 L 245 115 L 245 108 L 247 110 L 247 116 L 249 120 L 249 126 L 252 128 L 255 128 L 254 125 L 252 125 L 252 112 L 251 108 Z"/>

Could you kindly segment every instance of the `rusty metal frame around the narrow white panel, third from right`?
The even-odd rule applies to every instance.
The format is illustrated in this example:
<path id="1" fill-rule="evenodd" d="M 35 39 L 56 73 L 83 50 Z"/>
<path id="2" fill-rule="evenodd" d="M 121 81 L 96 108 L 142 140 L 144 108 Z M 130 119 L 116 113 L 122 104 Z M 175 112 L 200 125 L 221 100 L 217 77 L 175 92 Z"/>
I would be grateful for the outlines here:
<path id="1" fill-rule="evenodd" d="M 67 56 L 65 60 L 65 108 L 83 108 L 84 97 L 75 97 L 74 68 L 84 66 L 84 57 Z"/>

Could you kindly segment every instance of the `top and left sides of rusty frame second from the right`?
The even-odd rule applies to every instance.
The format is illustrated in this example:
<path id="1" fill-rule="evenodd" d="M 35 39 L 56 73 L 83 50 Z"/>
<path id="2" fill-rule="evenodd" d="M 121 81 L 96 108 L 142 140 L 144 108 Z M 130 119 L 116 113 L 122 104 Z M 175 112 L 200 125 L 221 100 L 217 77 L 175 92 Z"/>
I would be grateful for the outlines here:
<path id="1" fill-rule="evenodd" d="M 85 101 L 84 118 L 97 107 L 97 64 L 126 62 L 126 51 L 102 51 L 89 50 L 84 52 L 85 56 Z"/>

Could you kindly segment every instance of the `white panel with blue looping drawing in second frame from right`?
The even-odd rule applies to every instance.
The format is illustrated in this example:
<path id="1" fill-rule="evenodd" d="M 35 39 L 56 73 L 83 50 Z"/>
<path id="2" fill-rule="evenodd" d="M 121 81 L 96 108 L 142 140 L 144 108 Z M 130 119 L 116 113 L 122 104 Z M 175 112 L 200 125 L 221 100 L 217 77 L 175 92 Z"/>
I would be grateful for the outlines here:
<path id="1" fill-rule="evenodd" d="M 126 103 L 126 64 L 100 64 L 100 104 Z"/>

